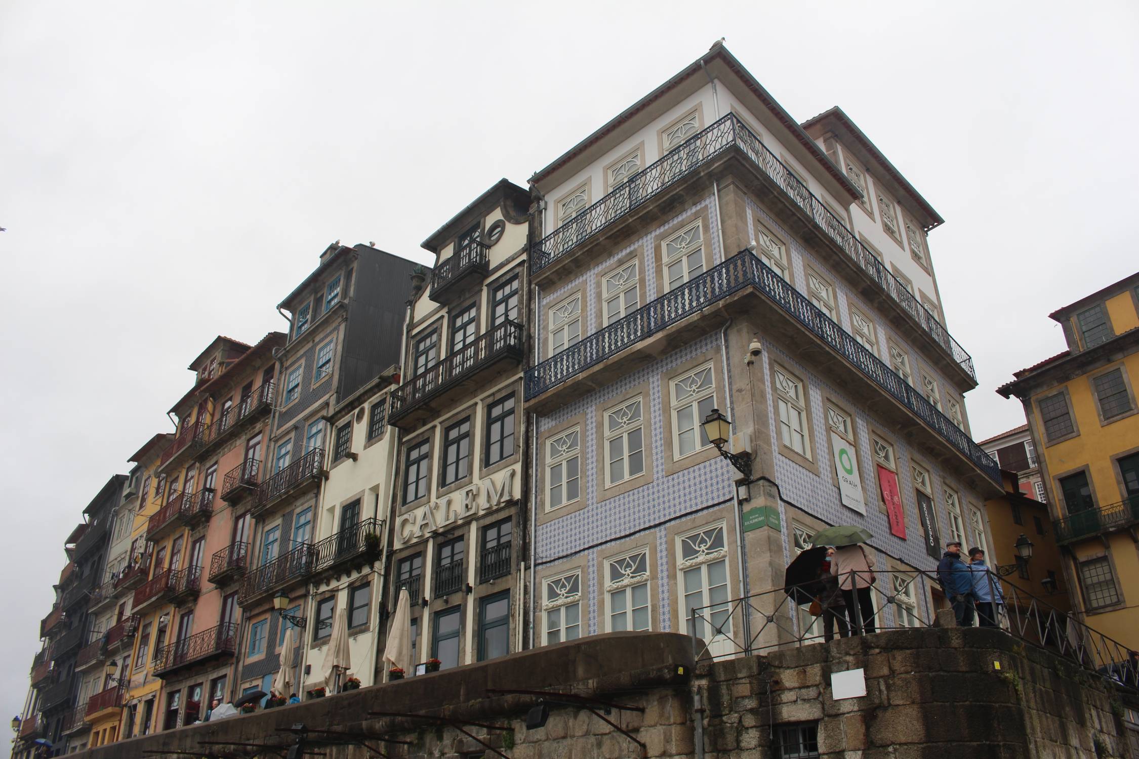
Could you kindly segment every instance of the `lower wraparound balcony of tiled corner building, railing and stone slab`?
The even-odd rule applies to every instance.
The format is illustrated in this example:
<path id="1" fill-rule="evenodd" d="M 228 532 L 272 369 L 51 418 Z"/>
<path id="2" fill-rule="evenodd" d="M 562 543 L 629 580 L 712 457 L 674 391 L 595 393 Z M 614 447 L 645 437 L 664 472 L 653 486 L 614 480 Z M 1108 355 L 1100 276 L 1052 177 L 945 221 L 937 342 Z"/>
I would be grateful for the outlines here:
<path id="1" fill-rule="evenodd" d="M 915 418 L 924 422 L 934 434 L 923 439 L 926 455 L 948 464 L 964 459 L 973 469 L 954 467 L 962 477 L 980 471 L 990 484 L 1000 484 L 997 462 L 949 416 L 746 250 L 527 371 L 526 401 L 533 402 L 531 407 L 535 412 L 543 413 L 552 405 L 607 386 L 666 349 L 707 333 L 713 321 L 722 324 L 732 314 L 765 321 L 773 336 L 800 346 L 804 355 L 813 354 L 820 373 L 841 381 L 847 391 L 867 403 L 877 402 L 883 394 L 893 398 L 898 406 L 876 403 L 879 415 L 900 429 L 912 429 Z M 667 328 L 673 328 L 667 333 L 672 348 L 653 339 Z M 618 355 L 620 361 L 609 361 Z M 574 381 L 570 382 L 571 379 Z"/>

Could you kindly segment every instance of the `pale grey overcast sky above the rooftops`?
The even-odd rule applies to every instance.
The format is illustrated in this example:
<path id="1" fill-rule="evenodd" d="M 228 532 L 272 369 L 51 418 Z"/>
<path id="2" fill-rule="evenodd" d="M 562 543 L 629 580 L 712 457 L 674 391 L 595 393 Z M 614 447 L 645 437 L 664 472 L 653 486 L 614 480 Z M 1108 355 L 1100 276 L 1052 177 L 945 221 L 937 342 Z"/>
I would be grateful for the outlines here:
<path id="1" fill-rule="evenodd" d="M 1136 3 L 0 2 L 0 709 L 17 713 L 62 542 L 218 333 L 333 240 L 419 242 L 727 46 L 798 121 L 842 106 L 947 220 L 931 236 L 993 389 L 1047 314 L 1136 271 Z M 413 6 L 419 6 L 413 8 Z"/>

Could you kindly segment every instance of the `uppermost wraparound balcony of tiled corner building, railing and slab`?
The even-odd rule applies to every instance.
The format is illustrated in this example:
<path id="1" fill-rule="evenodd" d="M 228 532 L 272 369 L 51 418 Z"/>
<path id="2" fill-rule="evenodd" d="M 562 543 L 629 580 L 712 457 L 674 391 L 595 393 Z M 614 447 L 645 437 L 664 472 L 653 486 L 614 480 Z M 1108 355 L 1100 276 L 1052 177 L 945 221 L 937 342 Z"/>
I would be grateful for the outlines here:
<path id="1" fill-rule="evenodd" d="M 936 355 L 961 372 L 962 379 L 976 386 L 973 358 L 945 328 L 906 289 L 902 282 L 854 236 L 846 224 L 787 168 L 760 139 L 735 115 L 728 114 L 707 129 L 689 138 L 654 164 L 645 167 L 628 182 L 585 208 L 573 220 L 546 236 L 531 249 L 531 273 L 574 264 L 570 254 L 585 249 L 612 250 L 617 245 L 622 222 L 632 217 L 663 217 L 674 212 L 667 203 L 648 203 L 658 196 L 672 197 L 687 181 L 698 181 L 716 165 L 735 159 L 751 180 L 759 180 L 757 197 L 773 196 L 780 203 L 777 212 L 786 223 L 809 241 L 823 245 L 839 254 L 847 266 L 843 272 L 857 289 L 871 300 L 909 322 L 925 336 Z M 620 247 L 620 245 L 617 246 Z"/>

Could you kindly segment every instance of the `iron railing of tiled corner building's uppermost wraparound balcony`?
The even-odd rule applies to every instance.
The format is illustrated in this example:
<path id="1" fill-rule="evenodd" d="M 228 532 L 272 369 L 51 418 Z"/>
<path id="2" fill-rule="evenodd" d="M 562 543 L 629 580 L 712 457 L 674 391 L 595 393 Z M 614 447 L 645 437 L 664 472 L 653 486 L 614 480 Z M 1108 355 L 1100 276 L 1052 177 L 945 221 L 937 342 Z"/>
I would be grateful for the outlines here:
<path id="1" fill-rule="evenodd" d="M 735 114 L 728 114 L 697 132 L 680 147 L 649 164 L 621 187 L 542 238 L 531 251 L 531 273 L 536 274 L 563 258 L 587 239 L 732 148 L 739 150 L 762 171 L 793 205 L 805 213 L 819 231 L 909 313 L 921 329 L 976 380 L 973 358 L 965 348 L 846 224 L 819 200 Z"/>

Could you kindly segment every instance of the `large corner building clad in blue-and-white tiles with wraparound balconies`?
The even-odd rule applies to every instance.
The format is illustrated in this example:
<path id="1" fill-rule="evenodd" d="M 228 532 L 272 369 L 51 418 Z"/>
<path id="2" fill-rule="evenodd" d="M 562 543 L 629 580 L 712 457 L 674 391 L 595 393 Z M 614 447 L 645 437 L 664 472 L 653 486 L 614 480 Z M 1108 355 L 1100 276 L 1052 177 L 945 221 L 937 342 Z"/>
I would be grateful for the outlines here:
<path id="1" fill-rule="evenodd" d="M 727 602 L 780 587 L 827 525 L 866 527 L 880 570 L 989 543 L 1000 476 L 941 321 L 941 217 L 841 110 L 800 126 L 715 44 L 531 183 L 535 645 L 714 607 L 727 654 L 760 624 Z M 921 617 L 931 589 L 893 588 Z"/>

